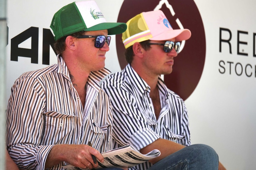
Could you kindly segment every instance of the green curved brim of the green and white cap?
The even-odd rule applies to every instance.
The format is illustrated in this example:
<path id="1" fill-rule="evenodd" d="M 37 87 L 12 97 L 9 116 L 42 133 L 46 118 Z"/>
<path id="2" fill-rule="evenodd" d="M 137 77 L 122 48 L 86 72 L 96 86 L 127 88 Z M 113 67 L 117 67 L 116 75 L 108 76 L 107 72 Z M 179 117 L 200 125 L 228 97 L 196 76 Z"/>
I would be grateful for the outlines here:
<path id="1" fill-rule="evenodd" d="M 127 29 L 126 23 L 122 22 L 103 22 L 94 25 L 84 31 L 98 31 L 98 30 L 108 30 L 108 35 L 121 34 Z"/>

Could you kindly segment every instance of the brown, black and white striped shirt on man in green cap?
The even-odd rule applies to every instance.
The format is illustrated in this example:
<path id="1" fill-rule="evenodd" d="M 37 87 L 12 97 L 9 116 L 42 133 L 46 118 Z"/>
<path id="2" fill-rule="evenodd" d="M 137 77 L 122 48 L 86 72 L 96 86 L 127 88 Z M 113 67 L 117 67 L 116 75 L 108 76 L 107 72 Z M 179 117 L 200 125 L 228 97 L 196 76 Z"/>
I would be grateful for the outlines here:
<path id="1" fill-rule="evenodd" d="M 99 87 L 109 73 L 105 68 L 90 73 L 84 108 L 61 56 L 58 64 L 26 72 L 15 81 L 6 113 L 6 145 L 20 169 L 45 169 L 56 144 L 91 141 L 101 153 L 113 148 L 112 106 Z"/>

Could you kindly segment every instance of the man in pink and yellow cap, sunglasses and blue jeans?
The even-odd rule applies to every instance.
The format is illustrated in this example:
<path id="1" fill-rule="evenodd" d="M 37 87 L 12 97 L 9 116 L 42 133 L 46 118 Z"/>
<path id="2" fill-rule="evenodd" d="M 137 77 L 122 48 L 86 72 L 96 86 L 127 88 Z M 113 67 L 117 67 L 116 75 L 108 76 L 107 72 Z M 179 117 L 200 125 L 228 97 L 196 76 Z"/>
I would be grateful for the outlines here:
<path id="1" fill-rule="evenodd" d="M 213 148 L 191 145 L 184 101 L 160 77 L 172 72 L 180 41 L 190 36 L 188 29 L 173 30 L 160 10 L 127 22 L 122 39 L 128 65 L 101 84 L 113 105 L 114 145 L 133 145 L 141 153 L 161 151 L 131 169 L 218 169 Z"/>

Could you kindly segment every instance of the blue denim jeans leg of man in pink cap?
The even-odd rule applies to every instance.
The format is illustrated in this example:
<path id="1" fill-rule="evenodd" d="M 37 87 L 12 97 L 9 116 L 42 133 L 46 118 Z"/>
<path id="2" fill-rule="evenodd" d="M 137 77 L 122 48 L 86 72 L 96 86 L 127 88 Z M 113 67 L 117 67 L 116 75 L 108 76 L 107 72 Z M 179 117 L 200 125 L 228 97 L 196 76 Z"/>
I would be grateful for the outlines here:
<path id="1" fill-rule="evenodd" d="M 148 170 L 217 170 L 219 157 L 208 145 L 187 146 L 155 163 Z"/>

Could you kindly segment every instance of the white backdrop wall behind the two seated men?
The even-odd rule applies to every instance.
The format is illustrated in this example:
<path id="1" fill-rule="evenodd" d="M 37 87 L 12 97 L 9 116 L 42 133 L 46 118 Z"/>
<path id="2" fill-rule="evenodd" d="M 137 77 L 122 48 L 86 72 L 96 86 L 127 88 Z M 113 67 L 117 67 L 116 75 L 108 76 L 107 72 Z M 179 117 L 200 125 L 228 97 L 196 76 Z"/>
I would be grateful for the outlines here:
<path id="1" fill-rule="evenodd" d="M 95 1 L 108 22 L 117 21 L 123 0 Z M 202 77 L 194 92 L 185 101 L 189 113 L 192 144 L 204 143 L 213 147 L 219 154 L 219 160 L 229 170 L 255 169 L 256 57 L 253 56 L 255 53 L 253 34 L 256 33 L 256 1 L 194 1 L 205 28 L 206 59 Z M 53 14 L 71 2 L 68 0 L 7 0 L 9 38 L 6 103 L 15 79 L 23 72 L 47 66 L 42 64 L 43 28 L 50 29 Z M 31 59 L 27 57 L 18 57 L 18 61 L 11 61 L 11 38 L 31 26 L 39 28 L 38 64 L 31 64 Z M 230 41 L 232 54 L 229 53 L 227 43 L 223 43 L 222 52 L 219 52 L 220 28 L 229 29 L 232 33 Z M 239 35 L 240 41 L 247 42 L 247 44 L 240 44 L 239 52 L 247 53 L 248 56 L 237 54 L 238 30 L 247 32 Z M 223 31 L 222 36 L 223 39 L 229 38 L 227 31 Z M 114 40 L 115 36 L 112 36 L 105 66 L 112 72 L 120 71 Z M 31 48 L 31 38 L 19 44 L 18 47 Z M 196 54 L 192 56 L 196 57 Z M 56 55 L 50 49 L 50 64 L 55 64 L 56 61 Z M 220 61 L 222 61 L 221 66 Z M 224 68 L 225 73 L 221 74 Z M 248 77 L 246 73 L 247 75 L 252 73 L 252 75 Z"/>

